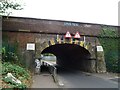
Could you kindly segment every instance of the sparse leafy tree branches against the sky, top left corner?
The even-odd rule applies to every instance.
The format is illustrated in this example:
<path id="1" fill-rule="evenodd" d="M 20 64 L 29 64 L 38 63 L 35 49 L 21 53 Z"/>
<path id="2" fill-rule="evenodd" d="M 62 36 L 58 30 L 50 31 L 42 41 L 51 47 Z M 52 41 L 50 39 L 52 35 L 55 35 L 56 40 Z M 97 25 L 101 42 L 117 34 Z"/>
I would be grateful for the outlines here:
<path id="1" fill-rule="evenodd" d="M 13 0 L 1 0 L 0 1 L 0 16 L 9 16 L 12 10 L 22 10 L 22 6 Z"/>

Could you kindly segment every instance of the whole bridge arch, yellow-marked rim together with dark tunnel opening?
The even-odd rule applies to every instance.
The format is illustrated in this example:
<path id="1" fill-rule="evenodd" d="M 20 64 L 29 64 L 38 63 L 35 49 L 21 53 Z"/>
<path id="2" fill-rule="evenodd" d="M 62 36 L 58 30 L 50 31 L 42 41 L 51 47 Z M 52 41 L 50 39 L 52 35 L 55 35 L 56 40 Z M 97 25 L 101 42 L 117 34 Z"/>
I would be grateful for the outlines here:
<path id="1" fill-rule="evenodd" d="M 91 46 L 84 41 L 52 38 L 43 42 L 42 46 L 41 54 L 54 54 L 57 64 L 61 67 L 95 72 L 95 60 L 91 60 Z"/>

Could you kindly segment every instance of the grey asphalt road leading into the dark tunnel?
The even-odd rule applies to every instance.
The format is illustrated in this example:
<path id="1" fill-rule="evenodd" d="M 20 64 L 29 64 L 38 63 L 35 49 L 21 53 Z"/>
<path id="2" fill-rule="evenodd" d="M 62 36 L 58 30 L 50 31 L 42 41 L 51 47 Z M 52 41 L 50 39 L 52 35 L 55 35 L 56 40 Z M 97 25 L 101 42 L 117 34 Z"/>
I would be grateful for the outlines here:
<path id="1" fill-rule="evenodd" d="M 118 88 L 118 82 L 80 71 L 58 70 L 58 79 L 62 88 Z"/>

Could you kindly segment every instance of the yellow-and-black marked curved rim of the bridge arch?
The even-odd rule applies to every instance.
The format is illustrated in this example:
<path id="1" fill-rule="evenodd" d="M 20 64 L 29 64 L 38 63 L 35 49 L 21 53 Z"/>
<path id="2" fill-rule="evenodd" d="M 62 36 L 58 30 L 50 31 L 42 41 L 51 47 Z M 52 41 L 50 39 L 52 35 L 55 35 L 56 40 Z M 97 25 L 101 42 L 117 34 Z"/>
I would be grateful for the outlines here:
<path id="1" fill-rule="evenodd" d="M 53 45 L 77 45 L 80 46 L 81 48 L 84 48 L 85 50 L 87 50 L 91 55 L 93 55 L 93 48 L 91 46 L 91 44 L 89 42 L 84 42 L 84 41 L 80 41 L 80 40 L 72 40 L 72 39 L 55 39 L 55 38 L 51 38 L 50 40 L 44 41 L 41 45 L 41 52 Z M 94 56 L 91 56 L 94 57 Z"/>

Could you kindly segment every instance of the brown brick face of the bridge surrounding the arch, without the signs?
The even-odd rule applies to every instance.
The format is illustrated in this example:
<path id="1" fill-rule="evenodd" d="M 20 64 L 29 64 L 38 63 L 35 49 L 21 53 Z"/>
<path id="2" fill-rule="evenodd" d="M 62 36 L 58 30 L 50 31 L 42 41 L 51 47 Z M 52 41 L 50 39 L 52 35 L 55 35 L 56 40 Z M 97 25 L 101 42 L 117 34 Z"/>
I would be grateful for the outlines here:
<path id="1" fill-rule="evenodd" d="M 81 42 L 72 40 L 67 43 L 80 45 L 90 52 L 90 59 L 94 60 L 82 61 L 84 62 L 83 67 L 86 67 L 86 71 L 95 72 L 95 59 L 98 59 L 97 71 L 106 71 L 104 52 L 97 53 L 95 51 L 96 46 L 100 45 L 100 43 L 96 37 L 92 37 L 100 34 L 102 25 L 15 17 L 7 19 L 3 17 L 2 27 L 3 40 L 6 38 L 8 44 L 18 43 L 18 53 L 26 62 L 29 62 L 26 59 L 31 53 L 34 53 L 34 55 L 31 55 L 32 59 L 35 57 L 38 58 L 45 48 L 55 44 L 66 43 L 64 35 L 67 31 L 72 34 L 72 37 L 76 31 L 78 31 L 81 34 Z M 84 35 L 86 36 L 85 44 L 82 43 Z M 57 38 L 57 36 L 59 36 L 59 38 Z M 27 43 L 35 43 L 35 51 L 30 52 L 30 54 L 29 51 L 26 50 Z M 88 67 L 86 65 L 88 65 Z"/>

